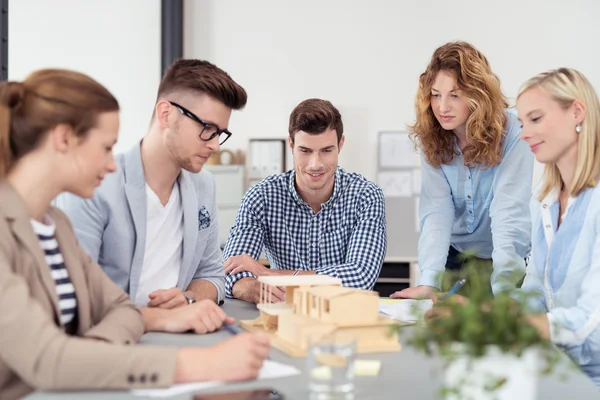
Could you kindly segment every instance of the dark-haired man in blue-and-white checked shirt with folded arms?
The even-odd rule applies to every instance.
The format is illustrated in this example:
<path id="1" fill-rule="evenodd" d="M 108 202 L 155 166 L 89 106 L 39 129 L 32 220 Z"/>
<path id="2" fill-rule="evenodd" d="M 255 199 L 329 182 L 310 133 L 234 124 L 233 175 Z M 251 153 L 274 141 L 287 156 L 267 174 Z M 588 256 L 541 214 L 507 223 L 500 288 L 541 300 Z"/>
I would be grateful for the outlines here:
<path id="1" fill-rule="evenodd" d="M 251 187 L 223 252 L 228 297 L 258 302 L 261 275 L 325 274 L 371 289 L 386 252 L 381 189 L 338 167 L 344 145 L 339 111 L 309 99 L 290 116 L 294 169 Z M 263 250 L 270 268 L 257 262 Z M 283 300 L 281 289 L 271 301 Z"/>

